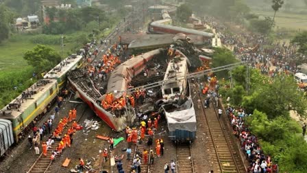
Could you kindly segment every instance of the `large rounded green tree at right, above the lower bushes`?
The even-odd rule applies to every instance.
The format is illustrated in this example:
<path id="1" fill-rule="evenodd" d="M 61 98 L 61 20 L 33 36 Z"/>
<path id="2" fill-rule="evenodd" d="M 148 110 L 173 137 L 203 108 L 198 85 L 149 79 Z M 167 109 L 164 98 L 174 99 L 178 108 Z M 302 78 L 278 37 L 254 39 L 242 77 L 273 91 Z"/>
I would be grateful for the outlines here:
<path id="1" fill-rule="evenodd" d="M 243 98 L 243 107 L 249 111 L 257 109 L 267 113 L 269 119 L 275 117 L 288 117 L 289 111 L 294 110 L 302 117 L 306 115 L 306 99 L 297 91 L 297 84 L 293 78 L 280 76 L 273 81 L 264 81 L 255 92 Z"/>

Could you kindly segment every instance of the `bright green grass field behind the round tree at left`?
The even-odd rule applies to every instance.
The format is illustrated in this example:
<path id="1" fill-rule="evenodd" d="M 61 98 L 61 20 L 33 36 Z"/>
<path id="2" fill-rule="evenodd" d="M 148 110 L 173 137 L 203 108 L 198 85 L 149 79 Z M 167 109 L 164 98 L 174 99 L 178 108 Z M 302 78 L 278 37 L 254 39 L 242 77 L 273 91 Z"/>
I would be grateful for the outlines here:
<path id="1" fill-rule="evenodd" d="M 0 71 L 16 71 L 25 69 L 27 62 L 23 60 L 23 54 L 26 51 L 32 50 L 36 44 L 30 41 L 31 35 L 19 35 L 18 39 L 10 39 L 0 44 Z M 76 43 L 64 43 L 64 55 L 67 51 L 71 51 Z M 47 45 L 56 49 L 62 55 L 60 45 Z M 80 45 L 81 47 L 81 45 Z"/>

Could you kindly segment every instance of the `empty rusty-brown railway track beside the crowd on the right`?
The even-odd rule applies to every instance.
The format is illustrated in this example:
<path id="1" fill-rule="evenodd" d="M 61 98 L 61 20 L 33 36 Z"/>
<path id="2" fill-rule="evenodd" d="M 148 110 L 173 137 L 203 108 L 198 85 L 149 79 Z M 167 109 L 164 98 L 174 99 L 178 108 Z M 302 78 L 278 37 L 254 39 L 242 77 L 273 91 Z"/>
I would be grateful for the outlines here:
<path id="1" fill-rule="evenodd" d="M 217 110 L 213 104 L 209 108 L 204 108 L 204 97 L 201 97 L 201 109 L 204 119 L 207 123 L 210 137 L 212 139 L 212 148 L 214 148 L 216 161 L 221 172 L 246 172 L 244 164 L 241 161 L 241 155 L 236 153 L 229 134 L 226 133 L 225 126 L 219 121 Z M 226 134 L 226 135 L 225 135 Z"/>

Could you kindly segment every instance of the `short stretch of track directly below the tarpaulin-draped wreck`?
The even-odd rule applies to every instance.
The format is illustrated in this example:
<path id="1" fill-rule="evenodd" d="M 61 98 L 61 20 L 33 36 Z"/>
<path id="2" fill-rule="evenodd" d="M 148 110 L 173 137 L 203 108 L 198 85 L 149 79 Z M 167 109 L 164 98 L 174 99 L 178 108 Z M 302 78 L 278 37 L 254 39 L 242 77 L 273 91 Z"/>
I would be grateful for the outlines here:
<path id="1" fill-rule="evenodd" d="M 191 153 L 191 145 L 180 145 L 176 147 L 177 173 L 194 173 L 194 163 Z M 169 165 L 170 166 L 170 165 Z"/>

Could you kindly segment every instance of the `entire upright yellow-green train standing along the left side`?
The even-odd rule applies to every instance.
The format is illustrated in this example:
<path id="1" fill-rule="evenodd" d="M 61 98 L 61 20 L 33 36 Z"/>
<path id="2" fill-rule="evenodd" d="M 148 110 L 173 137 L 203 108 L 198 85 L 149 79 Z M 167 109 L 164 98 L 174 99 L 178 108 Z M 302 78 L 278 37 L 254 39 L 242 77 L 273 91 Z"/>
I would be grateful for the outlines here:
<path id="1" fill-rule="evenodd" d="M 62 60 L 21 95 L 0 111 L 0 157 L 24 137 L 36 117 L 44 115 L 64 87 L 66 73 L 80 67 L 82 56 L 72 55 Z"/>

